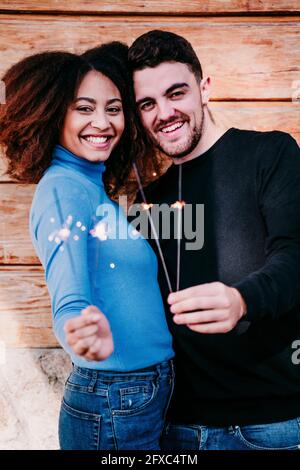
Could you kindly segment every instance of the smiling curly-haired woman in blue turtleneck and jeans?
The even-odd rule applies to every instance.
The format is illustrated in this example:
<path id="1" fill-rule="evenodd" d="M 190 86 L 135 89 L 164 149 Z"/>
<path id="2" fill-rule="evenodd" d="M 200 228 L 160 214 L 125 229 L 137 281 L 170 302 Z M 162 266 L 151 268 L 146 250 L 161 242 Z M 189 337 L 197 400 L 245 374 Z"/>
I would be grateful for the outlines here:
<path id="1" fill-rule="evenodd" d="M 173 389 L 155 254 L 141 236 L 124 239 L 133 227 L 105 189 L 126 184 L 144 155 L 127 49 L 109 43 L 81 56 L 38 54 L 4 77 L 0 143 L 9 173 L 38 181 L 30 233 L 54 332 L 73 363 L 62 449 L 159 449 Z M 103 208 L 115 215 L 109 222 Z"/>

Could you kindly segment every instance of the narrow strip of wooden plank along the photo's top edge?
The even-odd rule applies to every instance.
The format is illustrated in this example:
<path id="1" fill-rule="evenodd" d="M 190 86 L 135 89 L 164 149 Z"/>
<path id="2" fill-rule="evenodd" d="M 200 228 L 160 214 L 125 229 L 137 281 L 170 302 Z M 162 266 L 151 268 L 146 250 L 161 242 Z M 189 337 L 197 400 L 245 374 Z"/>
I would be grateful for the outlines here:
<path id="1" fill-rule="evenodd" d="M 213 14 L 213 13 L 247 13 L 247 12 L 298 12 L 299 2 L 295 0 L 23 0 L 11 2 L 2 0 L 1 10 L 42 11 L 42 12 L 78 12 L 98 14 Z"/>

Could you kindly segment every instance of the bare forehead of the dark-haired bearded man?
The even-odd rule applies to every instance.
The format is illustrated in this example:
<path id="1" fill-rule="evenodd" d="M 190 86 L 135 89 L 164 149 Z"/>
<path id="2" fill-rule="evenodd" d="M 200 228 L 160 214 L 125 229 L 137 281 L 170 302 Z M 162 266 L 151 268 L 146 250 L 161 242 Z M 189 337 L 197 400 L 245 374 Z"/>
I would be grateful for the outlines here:
<path id="1" fill-rule="evenodd" d="M 193 73 L 181 62 L 163 62 L 156 67 L 146 67 L 133 73 L 136 97 L 164 93 L 175 83 L 190 83 Z"/>

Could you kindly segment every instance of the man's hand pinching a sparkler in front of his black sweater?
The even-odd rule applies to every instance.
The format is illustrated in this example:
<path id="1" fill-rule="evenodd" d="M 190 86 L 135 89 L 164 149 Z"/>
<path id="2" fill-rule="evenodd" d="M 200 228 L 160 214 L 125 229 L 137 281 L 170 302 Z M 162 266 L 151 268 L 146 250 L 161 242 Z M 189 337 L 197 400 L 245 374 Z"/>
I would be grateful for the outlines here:
<path id="1" fill-rule="evenodd" d="M 228 333 L 247 310 L 239 291 L 221 282 L 174 292 L 168 302 L 174 322 L 197 333 Z"/>

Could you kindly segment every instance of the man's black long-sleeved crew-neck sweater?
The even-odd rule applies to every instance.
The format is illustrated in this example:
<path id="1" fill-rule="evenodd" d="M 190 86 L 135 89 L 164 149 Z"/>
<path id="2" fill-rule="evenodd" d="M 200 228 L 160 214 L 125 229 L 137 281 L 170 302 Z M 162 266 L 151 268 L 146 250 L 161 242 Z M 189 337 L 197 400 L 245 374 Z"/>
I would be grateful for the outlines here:
<path id="1" fill-rule="evenodd" d="M 148 202 L 178 199 L 178 165 L 146 189 Z M 182 199 L 204 204 L 204 245 L 185 250 L 180 289 L 220 281 L 248 313 L 226 334 L 199 334 L 172 321 L 176 352 L 169 419 L 227 426 L 300 416 L 300 149 L 282 132 L 228 130 L 182 166 Z M 155 243 L 151 242 L 154 249 Z M 161 240 L 173 287 L 177 241 Z M 294 343 L 294 345 L 293 345 Z M 299 357 L 299 355 L 298 355 Z"/>

